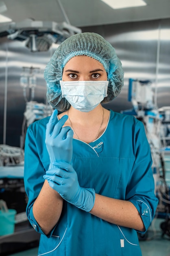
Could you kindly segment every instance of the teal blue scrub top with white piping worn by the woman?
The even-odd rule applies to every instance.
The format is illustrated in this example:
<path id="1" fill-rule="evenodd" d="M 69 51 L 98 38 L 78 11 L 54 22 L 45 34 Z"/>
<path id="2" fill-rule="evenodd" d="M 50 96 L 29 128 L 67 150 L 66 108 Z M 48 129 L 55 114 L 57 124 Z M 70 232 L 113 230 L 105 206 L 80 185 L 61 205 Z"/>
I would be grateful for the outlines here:
<path id="1" fill-rule="evenodd" d="M 46 117 L 29 126 L 25 146 L 26 213 L 34 229 L 41 233 L 38 255 L 141 256 L 136 230 L 111 224 L 66 201 L 50 234 L 46 236 L 40 229 L 33 216 L 33 203 L 50 164 L 45 144 L 48 121 Z M 107 128 L 96 141 L 87 144 L 73 139 L 72 161 L 80 186 L 94 188 L 110 198 L 129 200 L 148 229 L 158 199 L 154 194 L 150 147 L 141 121 L 111 110 Z"/>

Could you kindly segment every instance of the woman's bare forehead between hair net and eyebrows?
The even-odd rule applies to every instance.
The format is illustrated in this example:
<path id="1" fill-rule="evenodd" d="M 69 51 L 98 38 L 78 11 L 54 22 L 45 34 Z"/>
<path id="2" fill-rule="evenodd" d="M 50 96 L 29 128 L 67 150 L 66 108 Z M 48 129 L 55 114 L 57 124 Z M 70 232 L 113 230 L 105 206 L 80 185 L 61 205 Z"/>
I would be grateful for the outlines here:
<path id="1" fill-rule="evenodd" d="M 100 67 L 100 68 L 103 68 L 103 65 L 102 63 L 100 63 L 99 61 L 97 61 L 96 59 L 92 58 L 92 57 L 89 57 L 89 56 L 86 56 L 86 55 L 78 55 L 78 56 L 74 56 L 72 57 L 68 63 L 66 63 L 65 68 L 68 68 L 68 67 L 81 67 L 83 66 L 84 68 L 90 68 L 92 66 L 96 66 L 96 67 Z M 105 69 L 104 69 L 105 70 Z"/>

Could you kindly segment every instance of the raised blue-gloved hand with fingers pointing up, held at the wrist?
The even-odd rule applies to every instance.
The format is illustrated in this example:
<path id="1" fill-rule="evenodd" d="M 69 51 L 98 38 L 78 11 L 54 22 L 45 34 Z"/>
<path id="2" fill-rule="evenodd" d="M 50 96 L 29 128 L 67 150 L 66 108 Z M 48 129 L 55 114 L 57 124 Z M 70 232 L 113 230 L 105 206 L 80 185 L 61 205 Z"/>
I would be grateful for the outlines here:
<path id="1" fill-rule="evenodd" d="M 52 162 L 64 161 L 69 164 L 72 162 L 72 140 L 73 130 L 70 126 L 62 127 L 68 119 L 67 115 L 57 120 L 57 110 L 54 110 L 46 127 L 46 147 L 50 157 L 50 168 Z"/>

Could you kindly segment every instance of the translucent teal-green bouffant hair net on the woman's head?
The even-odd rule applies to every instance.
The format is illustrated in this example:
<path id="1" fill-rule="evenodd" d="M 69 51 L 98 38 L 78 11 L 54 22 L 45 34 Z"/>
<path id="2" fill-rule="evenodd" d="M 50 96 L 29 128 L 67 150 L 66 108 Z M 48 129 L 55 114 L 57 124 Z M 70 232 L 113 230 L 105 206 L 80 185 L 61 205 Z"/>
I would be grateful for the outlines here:
<path id="1" fill-rule="evenodd" d="M 47 83 L 47 100 L 53 108 L 59 111 L 68 110 L 70 103 L 62 98 L 60 80 L 63 67 L 74 56 L 87 55 L 102 63 L 109 81 L 107 97 L 102 103 L 108 103 L 118 96 L 124 83 L 122 63 L 117 57 L 115 49 L 102 36 L 85 32 L 67 38 L 54 52 L 44 71 Z"/>

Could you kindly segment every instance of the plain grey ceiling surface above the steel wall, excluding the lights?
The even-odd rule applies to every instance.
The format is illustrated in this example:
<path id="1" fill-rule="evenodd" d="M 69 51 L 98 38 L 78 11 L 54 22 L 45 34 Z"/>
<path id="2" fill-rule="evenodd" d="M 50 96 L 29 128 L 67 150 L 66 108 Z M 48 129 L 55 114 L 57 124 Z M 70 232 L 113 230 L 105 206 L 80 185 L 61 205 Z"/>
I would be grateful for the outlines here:
<path id="1" fill-rule="evenodd" d="M 170 0 L 145 0 L 146 6 L 126 9 L 111 9 L 101 0 L 3 0 L 3 2 L 7 6 L 7 11 L 1 14 L 14 22 L 31 18 L 54 22 L 68 21 L 76 27 L 85 27 L 170 18 Z"/>

